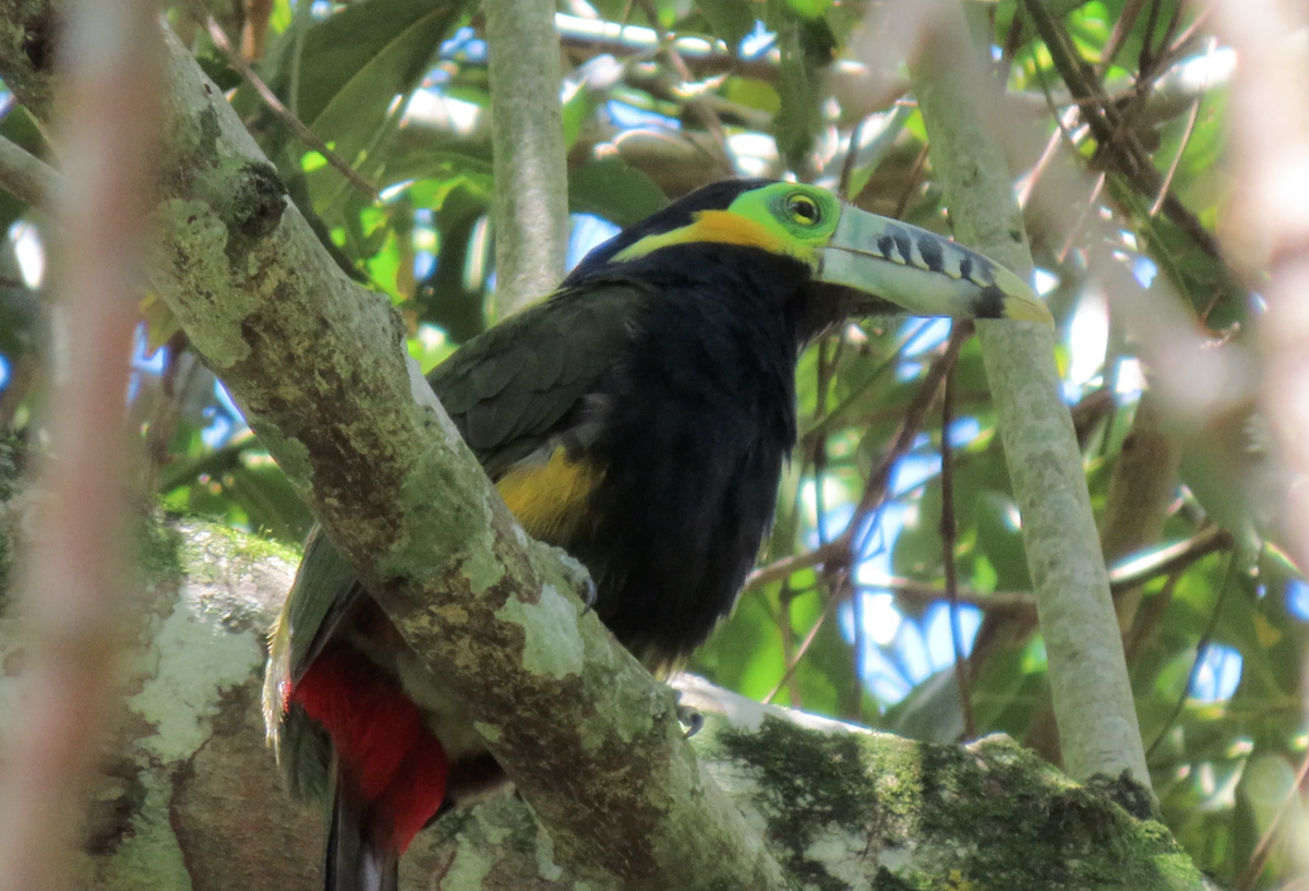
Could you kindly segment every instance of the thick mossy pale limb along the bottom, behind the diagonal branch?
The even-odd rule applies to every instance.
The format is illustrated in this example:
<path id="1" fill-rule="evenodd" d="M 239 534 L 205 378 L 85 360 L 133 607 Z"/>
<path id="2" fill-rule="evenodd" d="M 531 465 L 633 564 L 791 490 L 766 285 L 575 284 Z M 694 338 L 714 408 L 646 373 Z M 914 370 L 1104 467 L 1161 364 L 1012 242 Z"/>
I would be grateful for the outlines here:
<path id="1" fill-rule="evenodd" d="M 0 487 L 3 478 L 0 461 Z M 13 506 L 0 501 L 0 552 Z M 322 888 L 319 820 L 283 794 L 253 708 L 263 628 L 296 555 L 215 526 L 147 526 L 152 620 L 128 666 L 134 692 L 99 765 L 85 848 L 68 858 L 73 884 Z M 0 611 L 0 663 L 21 658 L 24 644 Z M 966 750 L 919 743 L 764 707 L 690 675 L 673 683 L 707 718 L 691 741 L 702 764 L 753 824 L 768 827 L 806 887 L 962 888 L 996 875 L 1051 891 L 1102 890 L 1105 875 L 1132 891 L 1212 887 L 1158 824 L 1131 819 L 1004 738 Z M 14 687 L 0 674 L 0 704 Z M 22 709 L 0 709 L 0 726 L 7 718 L 22 720 Z M 419 835 L 401 887 L 433 887 L 433 877 L 450 891 L 581 887 L 512 792 Z"/>

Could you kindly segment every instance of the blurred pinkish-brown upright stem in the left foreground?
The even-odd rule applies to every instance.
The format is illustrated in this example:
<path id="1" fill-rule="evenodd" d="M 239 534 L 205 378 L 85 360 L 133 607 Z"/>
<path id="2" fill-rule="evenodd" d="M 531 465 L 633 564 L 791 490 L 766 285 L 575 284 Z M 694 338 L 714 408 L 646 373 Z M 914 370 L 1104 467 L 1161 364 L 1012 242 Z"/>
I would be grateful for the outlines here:
<path id="1" fill-rule="evenodd" d="M 122 404 L 157 132 L 154 14 L 148 0 L 82 0 L 63 44 L 68 177 L 55 204 L 65 339 L 56 361 L 65 368 L 52 376 L 50 453 L 21 587 L 29 657 L 14 699 L 24 720 L 5 727 L 0 775 L 4 891 L 68 881 L 65 849 L 113 710 L 134 606 L 123 518 L 137 474 Z"/>

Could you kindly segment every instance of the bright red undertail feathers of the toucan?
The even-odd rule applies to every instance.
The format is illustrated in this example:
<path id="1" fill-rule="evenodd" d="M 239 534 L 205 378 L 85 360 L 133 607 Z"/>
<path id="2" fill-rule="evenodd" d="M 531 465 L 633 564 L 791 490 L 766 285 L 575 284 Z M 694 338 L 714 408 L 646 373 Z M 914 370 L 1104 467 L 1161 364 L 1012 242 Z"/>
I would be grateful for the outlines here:
<path id="1" fill-rule="evenodd" d="M 445 797 L 441 743 L 394 679 L 348 646 L 323 650 L 291 691 L 336 750 L 338 773 L 363 798 L 373 839 L 404 853 Z M 386 824 L 390 824 L 389 827 Z"/>

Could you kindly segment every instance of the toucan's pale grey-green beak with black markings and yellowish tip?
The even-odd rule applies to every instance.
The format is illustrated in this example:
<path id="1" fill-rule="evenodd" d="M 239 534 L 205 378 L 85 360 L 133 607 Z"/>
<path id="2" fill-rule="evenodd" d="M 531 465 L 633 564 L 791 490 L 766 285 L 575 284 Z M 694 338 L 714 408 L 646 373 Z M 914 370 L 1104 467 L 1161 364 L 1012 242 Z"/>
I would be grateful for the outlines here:
<path id="1" fill-rule="evenodd" d="M 816 279 L 895 304 L 914 315 L 1005 318 L 1054 326 L 1018 276 L 977 251 L 907 222 L 842 207 Z"/>

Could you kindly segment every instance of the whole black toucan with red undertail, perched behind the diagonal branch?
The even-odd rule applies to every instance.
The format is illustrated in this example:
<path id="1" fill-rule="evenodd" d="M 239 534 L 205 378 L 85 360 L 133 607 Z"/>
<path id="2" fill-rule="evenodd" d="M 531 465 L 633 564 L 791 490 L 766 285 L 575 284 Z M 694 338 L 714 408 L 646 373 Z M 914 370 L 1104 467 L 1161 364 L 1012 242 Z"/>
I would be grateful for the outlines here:
<path id="1" fill-rule="evenodd" d="M 1017 275 L 809 184 L 708 184 L 600 245 L 428 382 L 531 536 L 653 671 L 732 611 L 796 444 L 796 364 L 847 319 L 1052 324 Z M 503 782 L 463 705 L 315 529 L 270 636 L 268 737 L 332 802 L 329 891 L 391 891 L 435 816 Z"/>

